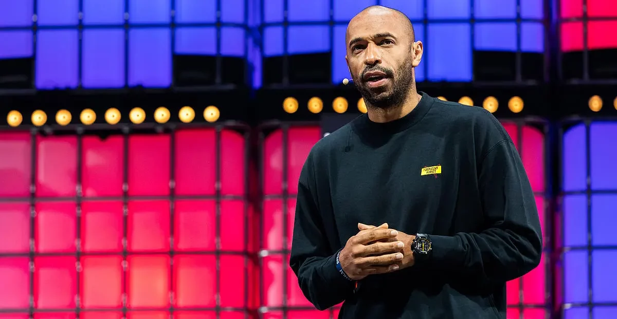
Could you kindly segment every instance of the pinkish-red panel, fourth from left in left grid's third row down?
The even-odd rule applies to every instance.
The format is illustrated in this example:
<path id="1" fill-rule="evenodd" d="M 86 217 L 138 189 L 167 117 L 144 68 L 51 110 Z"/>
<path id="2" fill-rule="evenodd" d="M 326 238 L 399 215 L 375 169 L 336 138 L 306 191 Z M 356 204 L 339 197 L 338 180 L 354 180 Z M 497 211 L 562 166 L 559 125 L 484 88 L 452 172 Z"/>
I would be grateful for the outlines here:
<path id="1" fill-rule="evenodd" d="M 169 307 L 170 256 L 128 256 L 127 307 Z"/>

